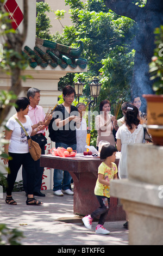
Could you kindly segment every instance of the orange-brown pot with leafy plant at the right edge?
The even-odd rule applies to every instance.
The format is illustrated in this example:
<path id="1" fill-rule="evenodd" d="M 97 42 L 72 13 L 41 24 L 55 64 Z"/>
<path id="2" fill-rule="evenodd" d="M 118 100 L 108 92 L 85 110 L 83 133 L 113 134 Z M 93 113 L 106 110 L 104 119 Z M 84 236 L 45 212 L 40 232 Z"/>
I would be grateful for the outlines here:
<path id="1" fill-rule="evenodd" d="M 163 26 L 155 29 L 155 48 L 149 73 L 155 94 L 143 95 L 147 100 L 147 128 L 155 145 L 163 145 Z"/>

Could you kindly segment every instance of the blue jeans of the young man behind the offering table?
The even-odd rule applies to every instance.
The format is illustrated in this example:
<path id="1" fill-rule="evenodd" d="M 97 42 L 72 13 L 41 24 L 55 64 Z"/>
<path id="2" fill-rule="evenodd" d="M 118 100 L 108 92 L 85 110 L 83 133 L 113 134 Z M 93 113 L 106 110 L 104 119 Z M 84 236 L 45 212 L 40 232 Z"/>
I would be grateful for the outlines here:
<path id="1" fill-rule="evenodd" d="M 63 148 L 67 148 L 67 147 L 71 147 L 73 150 L 76 150 L 77 148 L 77 144 L 65 144 L 62 142 L 56 142 L 55 143 L 55 148 L 58 147 L 63 147 Z M 57 191 L 57 190 L 68 190 L 71 186 L 71 175 L 67 170 L 64 170 L 64 173 L 62 170 L 59 169 L 54 169 L 54 186 L 53 186 L 53 191 Z"/>

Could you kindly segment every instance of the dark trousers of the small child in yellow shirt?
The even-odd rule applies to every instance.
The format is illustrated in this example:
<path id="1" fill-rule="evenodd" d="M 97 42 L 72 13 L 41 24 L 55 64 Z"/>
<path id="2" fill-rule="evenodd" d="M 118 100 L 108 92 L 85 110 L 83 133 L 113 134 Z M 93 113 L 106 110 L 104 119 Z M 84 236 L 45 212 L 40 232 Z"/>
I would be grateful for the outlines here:
<path id="1" fill-rule="evenodd" d="M 109 211 L 110 198 L 103 196 L 96 197 L 101 207 L 92 212 L 91 218 L 96 219 L 100 215 L 98 224 L 104 225 Z"/>

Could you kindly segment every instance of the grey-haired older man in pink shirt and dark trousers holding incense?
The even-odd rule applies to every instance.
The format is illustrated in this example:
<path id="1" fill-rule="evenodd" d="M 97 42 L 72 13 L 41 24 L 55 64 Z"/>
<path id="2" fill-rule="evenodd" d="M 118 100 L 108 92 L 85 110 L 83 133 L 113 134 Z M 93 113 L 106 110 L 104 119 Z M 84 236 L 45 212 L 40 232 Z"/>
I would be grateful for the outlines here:
<path id="1" fill-rule="evenodd" d="M 28 115 L 32 120 L 35 130 L 37 131 L 37 127 L 39 125 L 48 126 L 51 119 L 52 114 L 48 116 L 45 115 L 43 108 L 39 106 L 40 101 L 40 90 L 36 88 L 30 88 L 27 92 L 28 100 L 30 101 L 29 112 Z M 31 138 L 33 141 L 37 142 L 41 148 L 41 155 L 45 154 L 45 144 L 47 143 L 47 139 L 45 137 L 45 130 L 37 131 L 35 136 Z M 35 185 L 34 185 L 34 196 L 45 197 L 45 194 L 41 193 L 41 184 L 42 184 L 42 174 L 43 167 L 40 167 L 40 159 L 35 161 Z M 26 191 L 26 172 L 22 169 L 23 176 L 23 186 Z"/>

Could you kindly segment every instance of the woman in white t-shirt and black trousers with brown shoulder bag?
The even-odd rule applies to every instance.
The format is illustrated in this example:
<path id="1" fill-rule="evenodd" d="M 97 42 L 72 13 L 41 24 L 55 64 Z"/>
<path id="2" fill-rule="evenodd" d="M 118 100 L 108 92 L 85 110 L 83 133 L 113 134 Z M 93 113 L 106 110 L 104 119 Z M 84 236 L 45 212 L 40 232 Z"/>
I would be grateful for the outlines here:
<path id="1" fill-rule="evenodd" d="M 24 129 L 27 131 L 29 136 L 34 136 L 37 131 L 42 130 L 43 126 L 33 125 L 32 121 L 28 117 L 28 107 L 29 100 L 26 97 L 18 98 L 16 101 L 16 111 L 17 113 L 13 115 L 7 122 L 6 126 L 8 129 L 5 130 L 5 139 L 9 140 L 9 144 L 4 145 L 4 150 L 7 155 L 11 157 L 11 160 L 4 159 L 4 164 L 9 165 L 9 174 L 7 176 L 7 197 L 5 202 L 7 204 L 16 205 L 17 203 L 12 198 L 11 193 L 14 187 L 14 183 L 17 177 L 18 170 L 21 165 L 24 166 L 27 173 L 27 182 L 28 182 L 28 197 L 27 197 L 27 205 L 35 204 L 40 205 L 41 202 L 38 202 L 33 197 L 33 189 L 34 189 L 34 160 L 30 156 L 28 149 L 28 141 L 27 136 L 24 133 L 24 130 L 17 123 L 14 117 L 16 117 Z M 37 127 L 36 127 L 37 126 Z M 36 128 L 36 129 L 35 129 Z"/>

